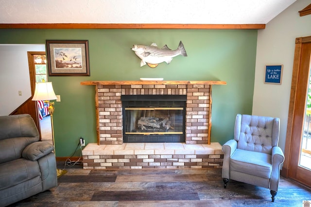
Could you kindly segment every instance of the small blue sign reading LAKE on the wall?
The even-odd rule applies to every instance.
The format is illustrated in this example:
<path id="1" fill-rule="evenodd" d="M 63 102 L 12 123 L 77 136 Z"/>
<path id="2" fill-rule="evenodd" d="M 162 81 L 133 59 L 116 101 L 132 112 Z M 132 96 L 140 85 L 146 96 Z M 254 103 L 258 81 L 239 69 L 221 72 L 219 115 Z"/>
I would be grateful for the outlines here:
<path id="1" fill-rule="evenodd" d="M 281 84 L 283 65 L 266 65 L 264 71 L 264 83 Z"/>

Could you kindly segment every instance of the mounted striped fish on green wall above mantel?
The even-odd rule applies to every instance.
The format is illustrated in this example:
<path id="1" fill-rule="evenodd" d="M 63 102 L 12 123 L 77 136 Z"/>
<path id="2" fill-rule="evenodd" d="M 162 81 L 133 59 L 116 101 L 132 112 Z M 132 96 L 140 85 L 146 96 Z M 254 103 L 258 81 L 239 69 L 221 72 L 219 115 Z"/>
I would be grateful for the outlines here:
<path id="1" fill-rule="evenodd" d="M 175 50 L 168 48 L 167 45 L 158 48 L 155 43 L 151 44 L 151 46 L 133 45 L 131 49 L 141 59 L 140 67 L 146 64 L 150 67 L 156 67 L 157 64 L 162 62 L 170 64 L 173 58 L 178 55 L 187 56 L 186 49 L 181 41 Z"/>

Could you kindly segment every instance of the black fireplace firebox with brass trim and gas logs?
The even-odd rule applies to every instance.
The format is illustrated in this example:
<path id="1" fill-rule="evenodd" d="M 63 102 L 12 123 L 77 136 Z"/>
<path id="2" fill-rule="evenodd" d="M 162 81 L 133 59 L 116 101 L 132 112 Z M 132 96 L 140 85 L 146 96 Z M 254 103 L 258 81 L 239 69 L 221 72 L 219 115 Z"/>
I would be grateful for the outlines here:
<path id="1" fill-rule="evenodd" d="M 121 96 L 124 143 L 183 143 L 187 96 Z"/>

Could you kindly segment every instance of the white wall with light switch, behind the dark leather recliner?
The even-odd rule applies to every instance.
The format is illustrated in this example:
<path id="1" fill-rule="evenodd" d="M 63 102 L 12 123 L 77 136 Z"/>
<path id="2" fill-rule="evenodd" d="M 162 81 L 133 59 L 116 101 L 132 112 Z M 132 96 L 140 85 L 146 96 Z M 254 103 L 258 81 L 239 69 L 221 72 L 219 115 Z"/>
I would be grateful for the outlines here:
<path id="1" fill-rule="evenodd" d="M 9 115 L 31 96 L 27 51 L 45 51 L 45 45 L 0 45 L 1 116 Z"/>

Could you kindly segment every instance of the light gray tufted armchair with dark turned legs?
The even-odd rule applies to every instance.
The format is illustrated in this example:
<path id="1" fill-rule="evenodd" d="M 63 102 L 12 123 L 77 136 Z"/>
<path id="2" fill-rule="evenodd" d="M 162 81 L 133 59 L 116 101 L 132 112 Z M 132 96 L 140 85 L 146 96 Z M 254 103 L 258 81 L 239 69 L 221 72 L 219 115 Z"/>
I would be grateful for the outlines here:
<path id="1" fill-rule="evenodd" d="M 277 146 L 279 118 L 238 114 L 234 139 L 223 145 L 223 180 L 270 189 L 272 202 L 278 188 L 284 154 Z"/>

